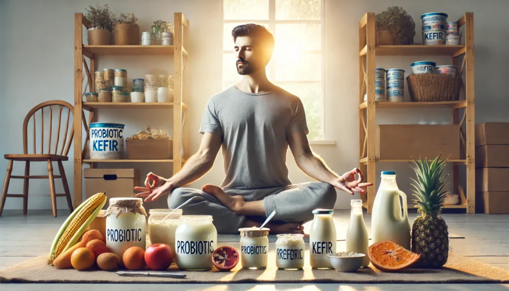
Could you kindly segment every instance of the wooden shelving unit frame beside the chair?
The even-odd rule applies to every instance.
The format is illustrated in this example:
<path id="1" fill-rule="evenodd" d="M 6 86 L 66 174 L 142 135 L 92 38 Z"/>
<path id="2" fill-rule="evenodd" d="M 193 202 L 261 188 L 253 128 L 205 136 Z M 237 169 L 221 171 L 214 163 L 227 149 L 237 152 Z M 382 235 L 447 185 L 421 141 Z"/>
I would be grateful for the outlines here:
<path id="1" fill-rule="evenodd" d="M 189 20 L 182 13 L 174 15 L 174 45 L 83 45 L 83 27 L 88 29 L 90 22 L 82 13 L 74 14 L 74 115 L 83 116 L 83 110 L 89 111 L 88 124 L 82 130 L 81 118 L 74 120 L 74 207 L 82 202 L 82 167 L 89 164 L 91 168 L 97 163 L 173 163 L 173 173 L 182 168 L 189 155 L 189 130 L 182 129 L 182 114 L 187 109 L 183 95 L 188 90 L 187 78 L 184 77 L 184 59 L 188 57 L 186 48 L 189 43 Z M 82 77 L 83 65 L 90 84 L 94 89 L 94 72 L 96 56 L 173 56 L 174 57 L 174 102 L 168 103 L 111 103 L 83 102 Z M 90 68 L 84 61 L 90 59 Z M 173 160 L 90 160 L 86 159 L 89 142 L 88 125 L 97 118 L 97 109 L 173 109 Z M 84 147 L 82 147 L 84 137 Z M 184 158 L 181 156 L 181 145 L 184 145 Z"/>

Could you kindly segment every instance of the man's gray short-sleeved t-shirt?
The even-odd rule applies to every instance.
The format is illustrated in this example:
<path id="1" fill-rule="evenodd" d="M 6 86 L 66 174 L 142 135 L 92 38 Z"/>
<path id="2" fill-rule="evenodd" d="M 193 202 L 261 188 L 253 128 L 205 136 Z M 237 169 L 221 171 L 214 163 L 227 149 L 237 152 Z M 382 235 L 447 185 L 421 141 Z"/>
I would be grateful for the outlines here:
<path id="1" fill-rule="evenodd" d="M 212 96 L 200 133 L 222 136 L 226 177 L 221 188 L 288 186 L 286 155 L 289 131 L 309 133 L 302 101 L 277 87 L 244 93 L 232 86 Z"/>

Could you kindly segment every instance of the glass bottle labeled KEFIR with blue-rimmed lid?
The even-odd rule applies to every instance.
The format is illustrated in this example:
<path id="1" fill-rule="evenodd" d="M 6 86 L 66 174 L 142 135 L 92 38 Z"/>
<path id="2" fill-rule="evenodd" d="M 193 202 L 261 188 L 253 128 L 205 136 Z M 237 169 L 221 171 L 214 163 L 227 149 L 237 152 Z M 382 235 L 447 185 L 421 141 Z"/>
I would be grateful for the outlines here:
<path id="1" fill-rule="evenodd" d="M 334 210 L 315 209 L 309 232 L 309 264 L 313 269 L 331 269 L 327 254 L 336 253 L 336 228 L 332 221 Z"/>

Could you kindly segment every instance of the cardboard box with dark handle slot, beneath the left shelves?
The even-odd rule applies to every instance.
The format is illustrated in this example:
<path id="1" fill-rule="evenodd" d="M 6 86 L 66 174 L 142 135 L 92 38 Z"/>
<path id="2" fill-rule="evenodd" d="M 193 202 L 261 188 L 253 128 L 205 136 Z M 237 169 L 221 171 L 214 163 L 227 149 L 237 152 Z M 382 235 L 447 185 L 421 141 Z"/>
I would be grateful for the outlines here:
<path id="1" fill-rule="evenodd" d="M 87 198 L 106 192 L 110 198 L 133 197 L 134 187 L 139 186 L 138 169 L 83 169 Z M 103 209 L 108 207 L 106 203 Z"/>

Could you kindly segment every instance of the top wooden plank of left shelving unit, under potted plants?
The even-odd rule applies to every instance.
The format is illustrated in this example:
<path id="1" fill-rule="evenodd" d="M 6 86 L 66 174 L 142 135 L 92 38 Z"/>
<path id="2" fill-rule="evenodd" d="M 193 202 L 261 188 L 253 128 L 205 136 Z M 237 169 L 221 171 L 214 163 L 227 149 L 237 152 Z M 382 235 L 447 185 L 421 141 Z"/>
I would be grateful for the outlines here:
<path id="1" fill-rule="evenodd" d="M 106 56 L 164 56 L 173 55 L 173 45 L 83 45 L 83 51 Z"/>

